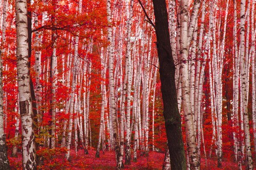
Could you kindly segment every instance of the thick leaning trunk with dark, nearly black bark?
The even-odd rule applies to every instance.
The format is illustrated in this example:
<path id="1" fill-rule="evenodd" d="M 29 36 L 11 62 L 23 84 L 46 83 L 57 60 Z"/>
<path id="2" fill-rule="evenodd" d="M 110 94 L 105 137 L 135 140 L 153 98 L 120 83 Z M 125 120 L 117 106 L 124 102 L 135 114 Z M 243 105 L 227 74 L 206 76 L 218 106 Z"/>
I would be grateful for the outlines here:
<path id="1" fill-rule="evenodd" d="M 165 0 L 153 0 L 157 53 L 164 104 L 164 121 L 171 159 L 171 170 L 186 170 L 184 144 L 181 133 L 181 117 L 178 110 L 168 16 Z"/>

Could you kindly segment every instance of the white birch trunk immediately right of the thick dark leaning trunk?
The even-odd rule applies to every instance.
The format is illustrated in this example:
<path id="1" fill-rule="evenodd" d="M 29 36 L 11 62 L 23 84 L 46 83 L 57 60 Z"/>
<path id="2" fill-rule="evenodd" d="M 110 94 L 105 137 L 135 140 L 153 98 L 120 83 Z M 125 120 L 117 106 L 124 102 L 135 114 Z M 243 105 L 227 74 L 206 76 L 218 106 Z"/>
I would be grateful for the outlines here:
<path id="1" fill-rule="evenodd" d="M 180 49 L 181 60 L 187 61 L 189 55 L 188 47 L 188 0 L 180 2 Z M 193 124 L 193 115 L 189 97 L 189 69 L 188 62 L 182 62 L 180 67 L 181 82 L 182 82 L 182 106 L 185 116 L 186 125 L 186 142 L 187 150 L 190 158 L 191 170 L 200 170 L 200 161 L 198 158 L 196 138 Z M 199 89 L 199 88 L 198 88 Z M 199 89 L 200 90 L 200 89 Z M 197 106 L 197 105 L 196 105 Z M 200 129 L 200 128 L 199 128 Z"/>

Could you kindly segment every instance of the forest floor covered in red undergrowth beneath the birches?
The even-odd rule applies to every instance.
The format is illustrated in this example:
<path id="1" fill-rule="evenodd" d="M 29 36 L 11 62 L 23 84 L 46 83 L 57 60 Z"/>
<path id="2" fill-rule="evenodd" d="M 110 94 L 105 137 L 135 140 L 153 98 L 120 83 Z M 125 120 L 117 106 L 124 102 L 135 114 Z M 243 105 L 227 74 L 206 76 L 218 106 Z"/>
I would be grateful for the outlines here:
<path id="1" fill-rule="evenodd" d="M 115 152 L 100 152 L 100 158 L 95 158 L 96 151 L 89 150 L 89 155 L 85 155 L 83 150 L 79 150 L 75 155 L 74 150 L 71 151 L 71 161 L 65 161 L 65 154 L 56 155 L 55 158 L 45 157 L 44 166 L 38 167 L 38 170 L 115 170 Z M 137 154 L 137 162 L 131 162 L 131 165 L 125 165 L 125 170 L 162 170 L 164 153 L 150 152 L 148 157 L 139 156 Z M 18 157 L 9 157 L 11 170 L 22 170 L 22 155 L 18 153 Z M 222 162 L 222 168 L 216 167 L 215 159 L 201 159 L 201 170 L 235 170 L 238 169 L 237 163 Z M 244 169 L 244 167 L 243 167 Z"/>

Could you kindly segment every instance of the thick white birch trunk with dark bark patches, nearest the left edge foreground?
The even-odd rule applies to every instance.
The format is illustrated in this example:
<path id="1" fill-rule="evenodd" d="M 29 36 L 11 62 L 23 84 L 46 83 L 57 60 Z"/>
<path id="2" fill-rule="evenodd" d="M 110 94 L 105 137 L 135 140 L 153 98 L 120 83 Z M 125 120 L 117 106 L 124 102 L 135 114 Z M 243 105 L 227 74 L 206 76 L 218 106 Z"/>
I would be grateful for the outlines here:
<path id="1" fill-rule="evenodd" d="M 18 93 L 20 99 L 20 116 L 22 126 L 22 166 L 23 170 L 36 170 L 33 108 L 29 86 L 29 44 L 27 27 L 27 1 L 16 0 L 16 56 L 18 71 Z"/>

